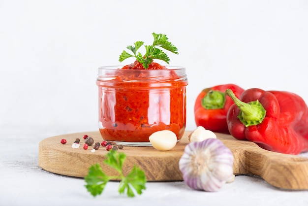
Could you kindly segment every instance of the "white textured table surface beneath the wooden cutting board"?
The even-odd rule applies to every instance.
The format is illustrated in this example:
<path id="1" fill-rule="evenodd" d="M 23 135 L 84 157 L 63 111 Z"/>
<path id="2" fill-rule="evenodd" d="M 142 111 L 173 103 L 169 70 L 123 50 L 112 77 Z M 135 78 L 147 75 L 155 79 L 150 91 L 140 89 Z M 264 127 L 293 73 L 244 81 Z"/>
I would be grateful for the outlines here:
<path id="1" fill-rule="evenodd" d="M 191 190 L 183 181 L 147 182 L 147 189 L 135 198 L 119 195 L 119 182 L 109 182 L 103 194 L 93 198 L 84 187 L 83 178 L 54 174 L 38 166 L 39 141 L 92 131 L 77 128 L 1 128 L 1 206 L 308 206 L 308 191 L 277 189 L 260 177 L 245 175 L 236 176 L 234 182 L 213 193 Z"/>

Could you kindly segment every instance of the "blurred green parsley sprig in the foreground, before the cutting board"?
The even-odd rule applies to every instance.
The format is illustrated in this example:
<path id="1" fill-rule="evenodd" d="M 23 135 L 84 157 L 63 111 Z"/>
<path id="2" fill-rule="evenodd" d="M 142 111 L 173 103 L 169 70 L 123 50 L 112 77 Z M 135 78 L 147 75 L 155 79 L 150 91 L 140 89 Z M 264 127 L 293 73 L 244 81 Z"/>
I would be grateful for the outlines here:
<path id="1" fill-rule="evenodd" d="M 87 183 L 85 187 L 93 197 L 100 195 L 107 182 L 112 179 L 121 179 L 118 189 L 120 194 L 126 192 L 128 197 L 134 197 L 135 193 L 139 195 L 142 194 L 142 190 L 146 189 L 145 183 L 147 179 L 145 173 L 137 166 L 134 166 L 131 172 L 127 174 L 127 176 L 124 176 L 122 167 L 125 158 L 126 155 L 123 152 L 117 152 L 116 150 L 110 150 L 106 154 L 104 163 L 119 172 L 117 176 L 106 175 L 99 164 L 92 165 L 89 168 L 89 173 L 85 176 L 85 181 Z"/>

